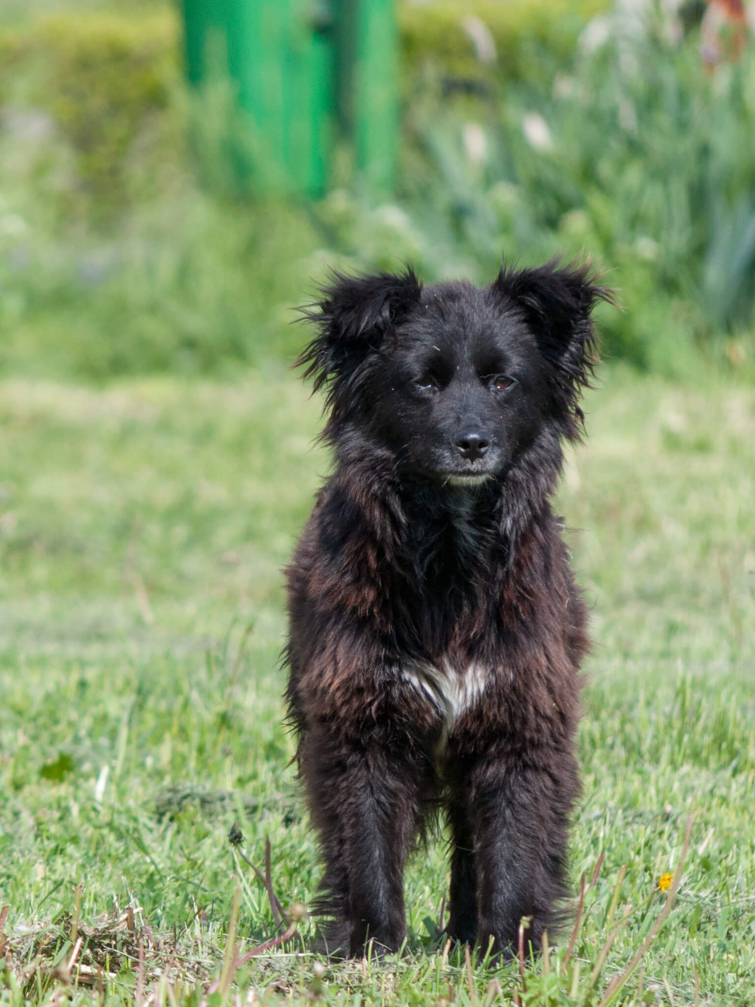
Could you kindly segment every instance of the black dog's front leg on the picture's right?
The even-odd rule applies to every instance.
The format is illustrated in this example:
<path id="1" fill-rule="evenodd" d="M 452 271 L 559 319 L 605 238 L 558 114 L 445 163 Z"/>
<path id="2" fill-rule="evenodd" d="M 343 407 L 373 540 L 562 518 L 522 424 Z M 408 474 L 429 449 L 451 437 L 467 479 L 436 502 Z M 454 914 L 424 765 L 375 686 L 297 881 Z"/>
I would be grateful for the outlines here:
<path id="1" fill-rule="evenodd" d="M 567 830 L 578 792 L 572 752 L 506 753 L 477 763 L 469 782 L 480 949 L 513 952 L 528 916 L 525 947 L 539 951 L 566 893 Z"/>

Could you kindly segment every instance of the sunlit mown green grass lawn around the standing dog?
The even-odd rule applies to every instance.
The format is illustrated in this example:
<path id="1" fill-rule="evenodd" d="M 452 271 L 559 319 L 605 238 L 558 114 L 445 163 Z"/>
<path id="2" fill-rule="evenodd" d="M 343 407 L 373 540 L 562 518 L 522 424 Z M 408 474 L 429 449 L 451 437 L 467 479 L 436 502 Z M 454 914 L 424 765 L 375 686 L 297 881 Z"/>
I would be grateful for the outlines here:
<path id="1" fill-rule="evenodd" d="M 264 869 L 269 837 L 284 907 L 319 873 L 278 666 L 280 569 L 327 467 L 317 403 L 275 365 L 0 384 L 0 1003 L 198 1005 L 220 976 L 208 1005 L 597 1004 L 691 813 L 670 913 L 612 1002 L 755 1003 L 755 389 L 615 369 L 589 411 L 561 503 L 596 642 L 575 894 L 603 860 L 569 961 L 567 931 L 522 991 L 515 964 L 444 948 L 442 842 L 410 866 L 403 959 L 327 963 L 305 920 L 234 970 L 230 923 L 241 955 L 276 932 L 240 851 Z"/>

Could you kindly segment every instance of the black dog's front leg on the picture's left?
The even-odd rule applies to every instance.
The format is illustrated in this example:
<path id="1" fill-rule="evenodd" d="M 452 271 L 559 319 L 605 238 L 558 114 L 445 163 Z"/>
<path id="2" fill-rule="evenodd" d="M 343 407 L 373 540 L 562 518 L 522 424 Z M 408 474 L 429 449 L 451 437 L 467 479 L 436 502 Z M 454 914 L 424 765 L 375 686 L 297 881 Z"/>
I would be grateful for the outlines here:
<path id="1" fill-rule="evenodd" d="M 326 870 L 318 911 L 331 951 L 398 951 L 406 934 L 404 865 L 418 817 L 418 767 L 401 749 L 310 731 L 300 752 Z"/>

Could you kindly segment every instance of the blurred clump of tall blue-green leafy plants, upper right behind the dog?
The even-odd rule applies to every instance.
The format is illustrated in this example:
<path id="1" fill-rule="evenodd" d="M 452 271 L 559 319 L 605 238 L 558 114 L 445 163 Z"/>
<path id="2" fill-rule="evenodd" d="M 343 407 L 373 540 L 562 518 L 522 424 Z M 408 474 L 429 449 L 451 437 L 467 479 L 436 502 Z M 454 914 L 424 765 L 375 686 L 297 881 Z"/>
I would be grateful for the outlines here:
<path id="1" fill-rule="evenodd" d="M 710 66 L 695 27 L 674 37 L 652 8 L 603 16 L 547 88 L 511 81 L 503 101 L 471 102 L 429 82 L 408 128 L 415 222 L 472 276 L 501 248 L 526 261 L 583 251 L 626 306 L 605 311 L 610 353 L 674 372 L 727 332 L 752 341 L 752 43 Z"/>

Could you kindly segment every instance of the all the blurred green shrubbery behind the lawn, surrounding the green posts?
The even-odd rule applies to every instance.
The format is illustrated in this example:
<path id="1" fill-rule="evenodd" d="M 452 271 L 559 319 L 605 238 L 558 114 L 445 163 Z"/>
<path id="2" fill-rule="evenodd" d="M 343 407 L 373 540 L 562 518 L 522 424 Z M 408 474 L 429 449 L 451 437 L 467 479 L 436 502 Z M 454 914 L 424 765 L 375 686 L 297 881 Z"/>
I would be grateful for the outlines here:
<path id="1" fill-rule="evenodd" d="M 398 191 L 336 166 L 308 204 L 249 190 L 234 89 L 187 93 L 169 3 L 9 3 L 0 369 L 229 372 L 293 357 L 290 307 L 327 265 L 483 282 L 501 253 L 563 253 L 619 290 L 607 355 L 751 373 L 753 45 L 707 62 L 704 5 L 665 9 L 405 2 Z"/>

